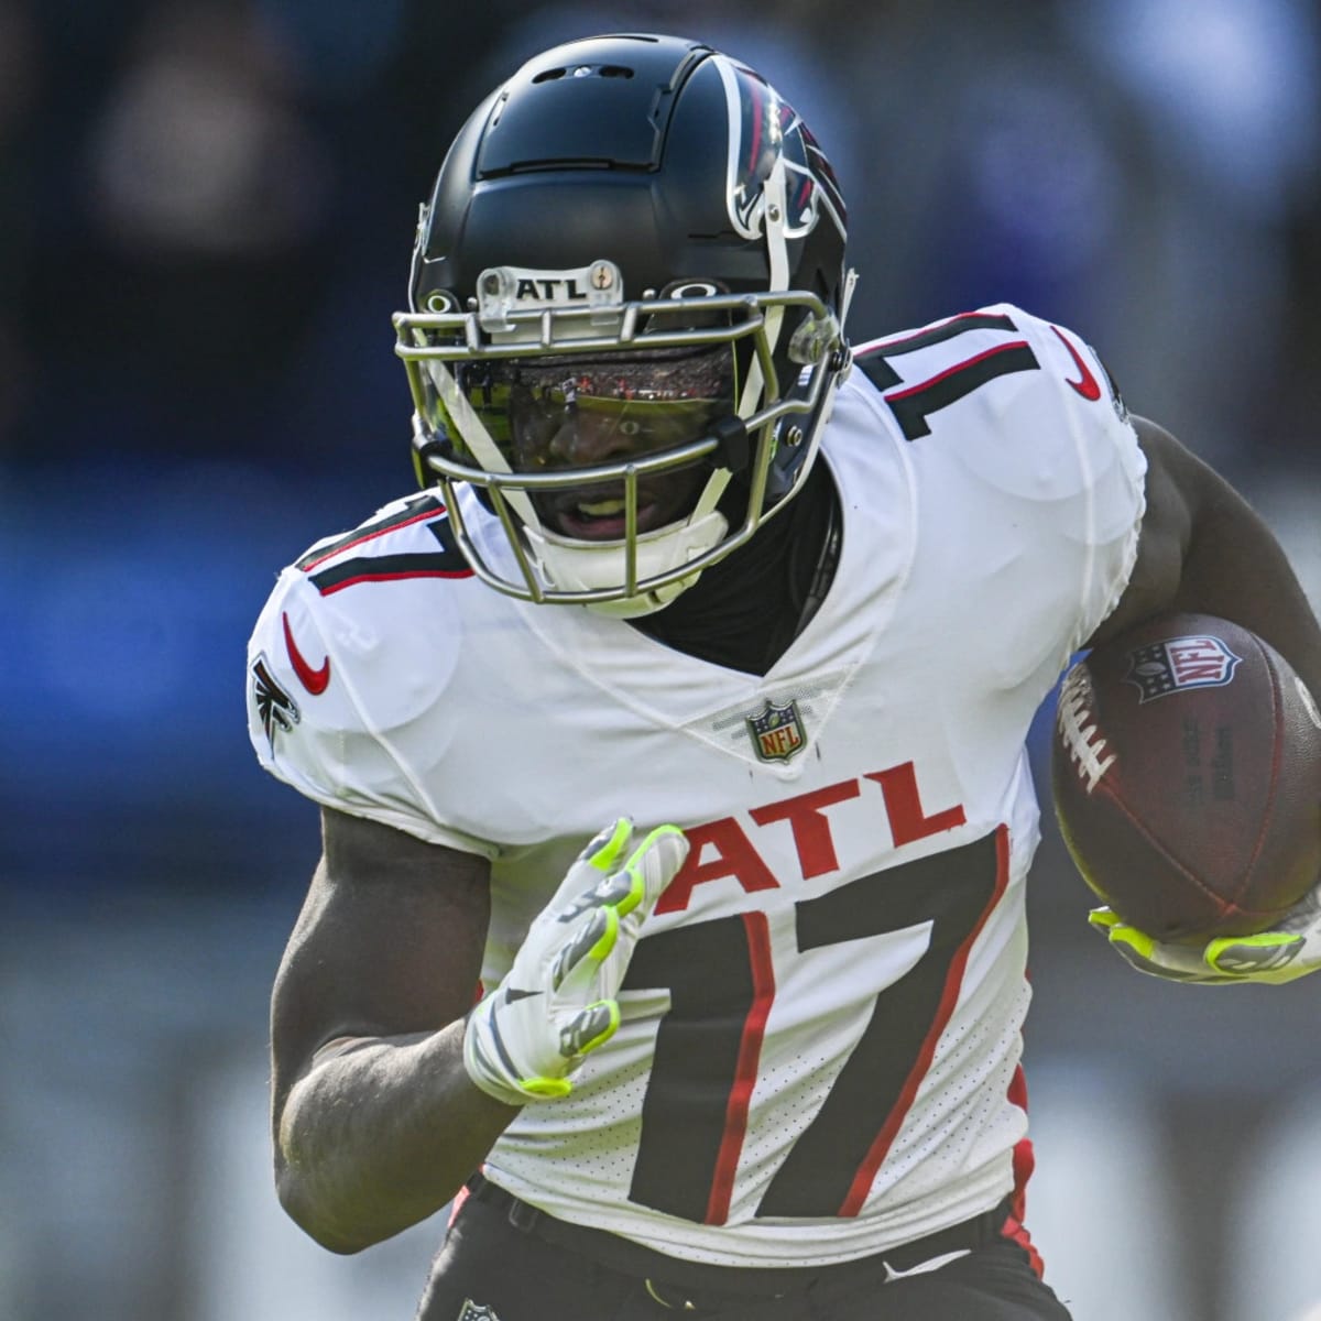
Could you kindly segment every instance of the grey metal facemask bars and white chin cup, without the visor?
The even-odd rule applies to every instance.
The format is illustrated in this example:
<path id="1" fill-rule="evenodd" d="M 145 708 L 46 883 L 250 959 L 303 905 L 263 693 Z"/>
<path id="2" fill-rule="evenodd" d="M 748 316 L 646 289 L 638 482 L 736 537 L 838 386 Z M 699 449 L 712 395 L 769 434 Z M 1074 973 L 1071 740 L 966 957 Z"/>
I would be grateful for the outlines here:
<path id="1" fill-rule="evenodd" d="M 781 387 L 775 345 L 786 313 L 797 322 L 789 345 L 798 379 Z M 742 546 L 797 490 L 826 420 L 828 396 L 847 367 L 839 322 L 815 295 L 719 293 L 692 281 L 671 296 L 624 296 L 620 269 L 598 260 L 572 271 L 487 269 L 465 309 L 433 295 L 424 312 L 394 317 L 396 354 L 413 398 L 413 450 L 423 481 L 440 485 L 456 540 L 483 583 L 524 601 L 589 605 L 618 616 L 645 614 L 668 604 L 709 564 Z M 460 365 L 535 358 L 553 363 L 610 354 L 700 353 L 727 346 L 742 363 L 724 416 L 707 419 L 695 439 L 649 453 L 552 472 L 518 470 L 507 436 L 495 436 L 474 407 Z M 793 480 L 768 502 L 777 453 L 802 453 Z M 707 465 L 691 511 L 675 522 L 639 530 L 639 483 L 694 465 Z M 717 509 L 734 473 L 748 489 L 745 511 L 731 528 Z M 456 486 L 468 483 L 499 519 L 513 565 L 483 553 L 465 526 Z M 610 540 L 564 536 L 547 527 L 538 502 L 600 483 L 622 493 L 622 535 Z"/>

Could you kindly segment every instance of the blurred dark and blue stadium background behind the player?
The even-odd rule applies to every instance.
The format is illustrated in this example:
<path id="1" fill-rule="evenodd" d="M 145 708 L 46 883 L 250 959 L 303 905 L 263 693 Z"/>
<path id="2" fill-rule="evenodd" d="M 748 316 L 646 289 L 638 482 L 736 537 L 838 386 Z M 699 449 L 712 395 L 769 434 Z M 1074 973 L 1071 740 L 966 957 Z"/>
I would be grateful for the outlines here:
<path id="1" fill-rule="evenodd" d="M 280 565 L 407 489 L 390 313 L 444 145 L 620 28 L 814 125 L 855 337 L 1074 326 L 1321 605 L 1312 0 L 0 0 L 0 1317 L 412 1316 L 439 1221 L 341 1259 L 271 1190 L 317 838 L 248 749 L 243 645 Z M 1321 987 L 1122 970 L 1049 830 L 1032 902 L 1048 1277 L 1078 1321 L 1317 1321 Z"/>

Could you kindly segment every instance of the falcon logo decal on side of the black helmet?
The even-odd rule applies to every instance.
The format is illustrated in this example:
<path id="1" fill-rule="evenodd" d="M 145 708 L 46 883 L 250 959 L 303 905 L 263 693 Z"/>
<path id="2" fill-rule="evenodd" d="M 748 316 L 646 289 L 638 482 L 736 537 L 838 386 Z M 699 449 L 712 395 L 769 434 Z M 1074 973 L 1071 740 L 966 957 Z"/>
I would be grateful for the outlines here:
<path id="1" fill-rule="evenodd" d="M 729 219 L 746 239 L 765 226 L 766 181 L 777 159 L 785 161 L 785 236 L 797 239 L 816 226 L 819 209 L 830 207 L 840 232 L 845 229 L 844 199 L 830 161 L 775 90 L 752 69 L 717 57 L 729 106 Z"/>

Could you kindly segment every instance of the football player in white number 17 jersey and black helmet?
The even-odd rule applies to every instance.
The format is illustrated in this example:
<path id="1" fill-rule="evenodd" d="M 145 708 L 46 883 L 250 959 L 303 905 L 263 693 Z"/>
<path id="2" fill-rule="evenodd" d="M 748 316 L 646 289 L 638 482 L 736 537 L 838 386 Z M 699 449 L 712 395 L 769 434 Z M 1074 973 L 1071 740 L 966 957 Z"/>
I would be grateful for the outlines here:
<path id="1" fill-rule="evenodd" d="M 1024 1226 L 1029 721 L 1176 608 L 1321 692 L 1279 544 L 1082 337 L 851 349 L 844 240 L 737 59 L 531 59 L 421 207 L 424 489 L 258 622 L 252 740 L 324 828 L 279 1193 L 338 1252 L 453 1199 L 425 1321 L 1066 1317 Z"/>

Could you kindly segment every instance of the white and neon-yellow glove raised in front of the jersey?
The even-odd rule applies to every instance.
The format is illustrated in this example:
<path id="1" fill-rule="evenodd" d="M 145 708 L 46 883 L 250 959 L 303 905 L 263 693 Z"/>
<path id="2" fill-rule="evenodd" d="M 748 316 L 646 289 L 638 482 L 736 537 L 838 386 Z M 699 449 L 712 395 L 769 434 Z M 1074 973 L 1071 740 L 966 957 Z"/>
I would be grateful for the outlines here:
<path id="1" fill-rule="evenodd" d="M 468 1015 L 468 1075 L 507 1106 L 568 1095 L 568 1074 L 620 1026 L 616 996 L 642 923 L 688 855 L 676 826 L 621 861 L 631 840 L 633 822 L 620 818 L 583 849 L 503 980 Z"/>

